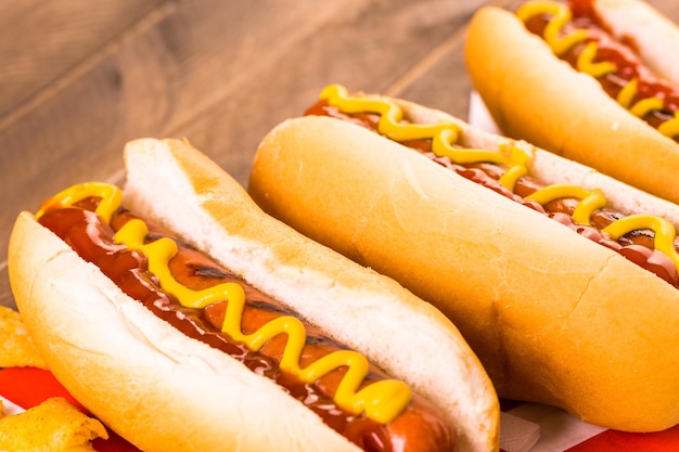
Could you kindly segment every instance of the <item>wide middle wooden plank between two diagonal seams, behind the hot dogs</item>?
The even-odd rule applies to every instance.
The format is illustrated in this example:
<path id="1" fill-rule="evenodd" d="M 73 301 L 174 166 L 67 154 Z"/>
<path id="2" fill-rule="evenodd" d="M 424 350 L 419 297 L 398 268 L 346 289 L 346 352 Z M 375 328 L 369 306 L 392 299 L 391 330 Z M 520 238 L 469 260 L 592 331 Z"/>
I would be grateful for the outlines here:
<path id="1" fill-rule="evenodd" d="M 382 91 L 461 26 L 457 17 L 437 1 L 179 2 L 0 124 L 0 231 L 67 184 L 119 178 L 124 142 L 142 135 L 185 135 L 245 183 L 264 133 L 322 86 Z M 7 276 L 0 290 L 11 302 Z"/>

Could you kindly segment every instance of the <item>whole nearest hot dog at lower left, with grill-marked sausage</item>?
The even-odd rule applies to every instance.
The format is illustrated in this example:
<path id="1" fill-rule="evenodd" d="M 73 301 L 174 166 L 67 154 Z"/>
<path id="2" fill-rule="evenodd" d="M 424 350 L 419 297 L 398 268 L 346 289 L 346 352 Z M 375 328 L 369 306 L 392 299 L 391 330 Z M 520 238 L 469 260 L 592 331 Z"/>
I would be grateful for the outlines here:
<path id="1" fill-rule="evenodd" d="M 440 312 L 188 143 L 125 159 L 124 194 L 66 189 L 10 242 L 27 330 L 102 422 L 144 451 L 498 449 L 497 396 Z"/>

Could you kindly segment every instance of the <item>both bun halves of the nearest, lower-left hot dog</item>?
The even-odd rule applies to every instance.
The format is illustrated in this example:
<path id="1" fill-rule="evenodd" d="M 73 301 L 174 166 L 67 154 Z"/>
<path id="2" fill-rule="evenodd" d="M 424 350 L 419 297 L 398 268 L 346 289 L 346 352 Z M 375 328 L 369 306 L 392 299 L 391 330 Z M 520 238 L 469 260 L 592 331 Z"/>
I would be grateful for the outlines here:
<path id="1" fill-rule="evenodd" d="M 498 450 L 497 396 L 440 312 L 265 215 L 185 142 L 130 142 L 126 166 L 124 205 L 410 383 L 449 416 L 461 451 Z M 26 212 L 10 277 L 55 376 L 144 451 L 357 450 L 272 382 L 156 319 Z"/>

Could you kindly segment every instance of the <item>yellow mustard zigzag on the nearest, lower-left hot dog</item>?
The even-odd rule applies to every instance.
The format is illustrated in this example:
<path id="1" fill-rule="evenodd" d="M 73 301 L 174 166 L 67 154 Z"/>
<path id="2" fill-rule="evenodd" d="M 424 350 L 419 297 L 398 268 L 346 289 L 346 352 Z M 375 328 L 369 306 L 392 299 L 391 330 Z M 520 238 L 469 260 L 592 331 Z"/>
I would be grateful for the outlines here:
<path id="1" fill-rule="evenodd" d="M 121 204 L 121 192 L 114 185 L 97 182 L 74 185 L 62 191 L 43 203 L 36 217 L 39 218 L 50 209 L 69 207 L 92 196 L 101 197 L 95 214 L 111 222 L 113 214 Z M 148 234 L 146 223 L 140 219 L 132 219 L 115 233 L 114 241 L 129 249 L 143 253 L 148 259 L 149 271 L 157 276 L 163 290 L 174 295 L 181 306 L 202 309 L 216 302 L 228 301 L 221 331 L 233 340 L 245 344 L 253 351 L 259 351 L 271 338 L 286 334 L 287 343 L 280 369 L 294 374 L 303 383 L 312 384 L 334 370 L 346 367 L 346 374 L 333 396 L 333 400 L 342 410 L 351 415 L 364 412 L 367 417 L 380 424 L 387 424 L 412 400 L 410 387 L 397 379 L 374 382 L 360 389 L 370 371 L 370 364 L 364 356 L 353 350 L 334 351 L 304 369 L 300 367 L 299 361 L 306 345 L 306 328 L 295 317 L 277 318 L 254 333 L 244 334 L 241 328 L 245 307 L 243 287 L 236 283 L 222 283 L 202 290 L 193 290 L 180 284 L 169 270 L 169 261 L 178 253 L 177 243 L 169 237 L 145 243 Z"/>

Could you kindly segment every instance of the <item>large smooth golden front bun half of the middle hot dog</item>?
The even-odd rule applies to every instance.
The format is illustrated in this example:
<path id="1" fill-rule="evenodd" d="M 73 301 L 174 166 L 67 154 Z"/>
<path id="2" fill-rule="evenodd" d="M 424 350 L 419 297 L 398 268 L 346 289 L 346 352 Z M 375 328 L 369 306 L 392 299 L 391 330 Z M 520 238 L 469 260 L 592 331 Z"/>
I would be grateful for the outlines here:
<path id="1" fill-rule="evenodd" d="M 274 128 L 248 190 L 439 308 L 501 397 L 623 430 L 679 422 L 679 295 L 619 255 L 333 118 Z"/>

